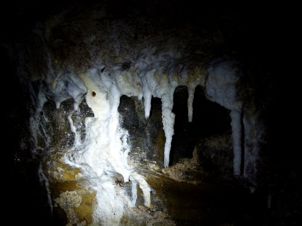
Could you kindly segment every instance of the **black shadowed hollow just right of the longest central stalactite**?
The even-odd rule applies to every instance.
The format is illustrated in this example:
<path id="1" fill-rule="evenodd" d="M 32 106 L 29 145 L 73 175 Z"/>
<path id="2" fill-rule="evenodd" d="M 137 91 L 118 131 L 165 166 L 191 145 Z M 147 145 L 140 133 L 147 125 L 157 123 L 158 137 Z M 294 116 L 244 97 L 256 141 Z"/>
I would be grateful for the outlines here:
<path id="1" fill-rule="evenodd" d="M 193 120 L 188 121 L 188 87 L 178 86 L 174 93 L 174 135 L 171 144 L 170 165 L 182 158 L 192 158 L 195 146 L 210 136 L 231 133 L 230 110 L 209 101 L 204 88 L 197 86 L 193 101 Z M 211 165 L 209 167 L 214 167 Z"/>

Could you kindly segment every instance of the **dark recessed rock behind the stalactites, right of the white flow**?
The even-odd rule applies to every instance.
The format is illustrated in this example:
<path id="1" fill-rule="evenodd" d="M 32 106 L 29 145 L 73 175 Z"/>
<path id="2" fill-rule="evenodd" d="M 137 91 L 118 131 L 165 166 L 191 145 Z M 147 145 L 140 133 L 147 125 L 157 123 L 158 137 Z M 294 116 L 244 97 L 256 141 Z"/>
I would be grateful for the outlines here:
<path id="1" fill-rule="evenodd" d="M 202 165 L 216 173 L 232 172 L 233 144 L 230 128 L 229 110 L 210 102 L 204 96 L 204 90 L 198 86 L 194 95 L 193 122 L 188 122 L 188 88 L 178 87 L 174 93 L 175 133 L 170 152 L 170 164 L 176 164 L 183 158 L 192 158 L 193 150 L 198 147 Z M 151 115 L 144 117 L 143 101 L 135 97 L 122 96 L 120 99 L 121 127 L 127 129 L 130 137 L 131 153 L 146 152 L 150 161 L 162 164 L 162 147 L 157 143 L 164 140 L 161 120 L 161 101 L 152 100 Z M 160 150 L 161 149 L 161 150 Z M 141 161 L 143 161 L 143 157 Z M 210 168 L 210 169 L 209 169 Z"/>

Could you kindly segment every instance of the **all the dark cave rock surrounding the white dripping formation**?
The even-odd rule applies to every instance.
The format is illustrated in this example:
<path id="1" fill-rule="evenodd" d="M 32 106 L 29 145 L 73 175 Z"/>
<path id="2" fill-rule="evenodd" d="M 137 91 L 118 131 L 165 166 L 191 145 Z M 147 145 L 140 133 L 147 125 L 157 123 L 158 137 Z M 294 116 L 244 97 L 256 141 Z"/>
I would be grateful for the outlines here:
<path id="1" fill-rule="evenodd" d="M 123 95 L 118 111 L 120 126 L 129 133 L 129 161 L 143 172 L 152 188 L 151 203 L 156 207 L 143 206 L 144 191 L 136 186 L 137 202 L 131 210 L 136 215 L 125 214 L 120 225 L 301 222 L 301 167 L 294 151 L 284 154 L 284 150 L 290 149 L 291 135 L 280 136 L 290 130 L 283 123 L 288 112 L 280 110 L 280 106 L 288 106 L 288 101 L 276 94 L 281 93 L 283 84 L 277 79 L 275 69 L 278 48 L 271 43 L 276 36 L 274 15 L 269 11 L 257 11 L 258 16 L 226 10 L 214 13 L 206 8 L 201 11 L 203 5 L 192 6 L 183 1 L 167 1 L 163 5 L 156 1 L 149 3 L 149 7 L 139 1 L 103 1 L 93 5 L 66 1 L 46 6 L 38 4 L 36 6 L 42 7 L 39 10 L 32 4 L 38 3 L 22 3 L 19 10 L 8 13 L 6 18 L 14 17 L 18 23 L 5 24 L 4 28 L 11 32 L 1 37 L 4 47 L 1 54 L 8 59 L 4 62 L 5 74 L 14 74 L 5 76 L 6 91 L 11 99 L 18 100 L 9 100 L 5 110 L 5 127 L 9 128 L 5 140 L 13 140 L 13 150 L 5 157 L 9 160 L 5 180 L 10 190 L 5 205 L 15 210 L 17 217 L 21 216 L 20 222 L 84 225 L 85 221 L 92 224 L 92 207 L 96 205 L 95 192 L 85 187 L 89 181 L 79 179 L 80 168 L 65 164 L 62 157 L 76 140 L 68 117 L 72 115 L 72 124 L 81 141 L 87 136 L 86 118 L 94 117 L 85 94 L 80 97 L 79 111 L 75 112 L 75 101 L 70 97 L 57 108 L 53 94 L 48 93 L 47 101 L 39 106 L 30 101 L 29 93 L 37 97 L 41 90 L 54 86 L 51 83 L 60 75 L 69 71 L 85 73 L 98 65 L 102 65 L 98 68 L 101 73 L 109 75 L 114 68 L 132 73 L 138 55 L 145 48 L 149 48 L 155 58 L 162 52 L 172 52 L 169 67 L 162 73 L 169 73 L 174 65 L 184 64 L 188 64 L 189 74 L 202 72 L 209 61 L 221 56 L 231 56 L 241 62 L 244 76 L 241 87 L 237 88 L 244 99 L 244 114 L 257 115 L 254 132 L 263 131 L 261 136 L 256 136 L 259 158 L 254 163 L 258 171 L 253 171 L 254 166 L 248 162 L 246 166 L 242 164 L 242 171 L 246 167 L 252 180 L 233 177 L 230 110 L 210 102 L 203 86 L 195 88 L 190 123 L 188 87 L 178 86 L 175 90 L 172 109 L 176 115 L 175 131 L 167 169 L 163 168 L 165 134 L 161 100 L 152 98 L 150 117 L 146 119 L 144 100 Z M 11 88 L 11 84 L 17 85 Z M 28 119 L 39 107 L 35 143 L 29 134 Z M 244 145 L 248 150 L 245 154 L 249 156 L 253 140 L 245 140 Z M 120 179 L 120 175 L 116 176 L 113 185 L 117 185 L 115 178 Z M 132 196 L 131 183 L 134 181 L 124 188 L 116 187 Z M 20 191 L 24 195 L 19 199 Z M 66 211 L 60 207 L 53 207 L 54 200 L 65 193 L 75 194 L 70 200 L 78 196 L 84 200 L 75 214 L 77 221 L 71 221 L 72 216 L 66 217 Z M 21 207 L 19 203 L 27 206 Z M 64 207 L 70 210 L 70 206 Z M 54 217 L 50 214 L 52 208 Z M 40 218 L 32 216 L 32 212 Z M 146 222 L 144 218 L 152 219 Z"/>

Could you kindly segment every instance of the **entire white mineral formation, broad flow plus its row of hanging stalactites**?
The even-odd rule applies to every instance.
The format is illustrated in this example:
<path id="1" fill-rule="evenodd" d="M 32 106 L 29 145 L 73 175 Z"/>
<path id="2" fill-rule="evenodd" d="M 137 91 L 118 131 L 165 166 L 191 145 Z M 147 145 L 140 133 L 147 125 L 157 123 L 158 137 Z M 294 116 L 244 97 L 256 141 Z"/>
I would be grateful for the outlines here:
<path id="1" fill-rule="evenodd" d="M 242 103 L 239 101 L 236 85 L 239 82 L 241 71 L 235 61 L 218 59 L 213 61 L 207 70 L 200 74 L 190 74 L 189 65 L 178 65 L 172 54 L 161 54 L 157 58 L 143 52 L 128 71 L 121 71 L 120 67 L 104 68 L 106 65 L 96 65 L 85 74 L 64 73 L 54 76 L 52 87 L 55 89 L 40 90 L 39 108 L 31 118 L 32 124 L 39 122 L 41 106 L 46 102 L 45 96 L 52 96 L 56 107 L 66 99 L 74 99 L 74 111 L 70 112 L 68 120 L 72 132 L 75 133 L 75 142 L 72 150 L 65 155 L 65 162 L 82 169 L 83 177 L 92 183 L 97 191 L 98 206 L 95 216 L 106 225 L 119 222 L 125 206 L 135 205 L 137 188 L 134 182 L 139 183 L 143 190 L 146 206 L 150 206 L 151 188 L 144 177 L 138 174 L 127 161 L 129 146 L 127 131 L 119 127 L 120 96 L 137 96 L 144 99 L 145 117 L 149 118 L 152 96 L 162 100 L 162 123 L 165 132 L 164 166 L 169 166 L 169 154 L 174 134 L 175 115 L 172 112 L 173 94 L 177 86 L 188 86 L 188 121 L 193 118 L 194 89 L 201 85 L 205 87 L 208 98 L 231 110 L 233 146 L 234 146 L 234 174 L 240 175 L 241 168 L 241 121 Z M 168 69 L 167 69 L 168 68 Z M 176 71 L 176 72 L 175 72 Z M 51 93 L 51 94 L 50 94 Z M 86 102 L 92 109 L 95 117 L 86 117 L 86 138 L 82 142 L 73 125 L 71 115 L 80 113 L 79 104 L 85 94 Z M 252 121 L 252 120 L 250 120 Z M 245 124 L 252 124 L 245 120 Z M 250 125 L 252 126 L 252 125 Z M 37 127 L 32 126 L 33 132 Z M 34 133 L 33 133 L 34 134 Z M 245 131 L 248 136 L 248 131 Z M 247 139 L 247 138 L 246 138 Z M 255 156 L 250 155 L 246 162 L 255 162 Z M 247 163 L 245 162 L 245 166 Z M 112 189 L 112 177 L 115 172 L 133 182 L 132 197 L 129 198 L 122 191 Z M 117 196 L 117 192 L 119 195 Z M 114 212 L 114 215 L 112 215 Z M 106 223 L 107 222 L 107 223 Z"/>

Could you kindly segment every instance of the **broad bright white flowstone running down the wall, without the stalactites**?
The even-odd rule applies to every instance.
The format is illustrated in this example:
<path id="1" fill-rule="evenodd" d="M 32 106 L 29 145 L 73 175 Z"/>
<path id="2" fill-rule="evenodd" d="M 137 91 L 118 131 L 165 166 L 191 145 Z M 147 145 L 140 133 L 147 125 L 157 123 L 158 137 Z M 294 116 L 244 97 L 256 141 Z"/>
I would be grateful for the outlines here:
<path id="1" fill-rule="evenodd" d="M 119 179 L 125 182 L 129 181 L 133 173 L 133 168 L 127 162 L 128 133 L 119 127 L 117 108 L 121 93 L 115 81 L 104 73 L 99 74 L 96 69 L 86 74 L 75 75 L 74 78 L 77 85 L 80 83 L 85 85 L 86 102 L 95 117 L 85 118 L 85 141 L 75 142 L 74 148 L 66 154 L 65 162 L 81 168 L 83 177 L 89 180 L 92 188 L 97 191 L 98 205 L 95 208 L 94 221 L 101 221 L 104 225 L 118 224 L 125 206 L 133 207 L 136 202 L 130 200 L 122 191 L 116 191 L 114 188 L 118 187 L 113 185 L 115 172 L 121 174 L 123 178 Z M 72 131 L 76 134 L 71 116 L 68 119 Z M 135 196 L 133 198 L 136 199 Z"/>

